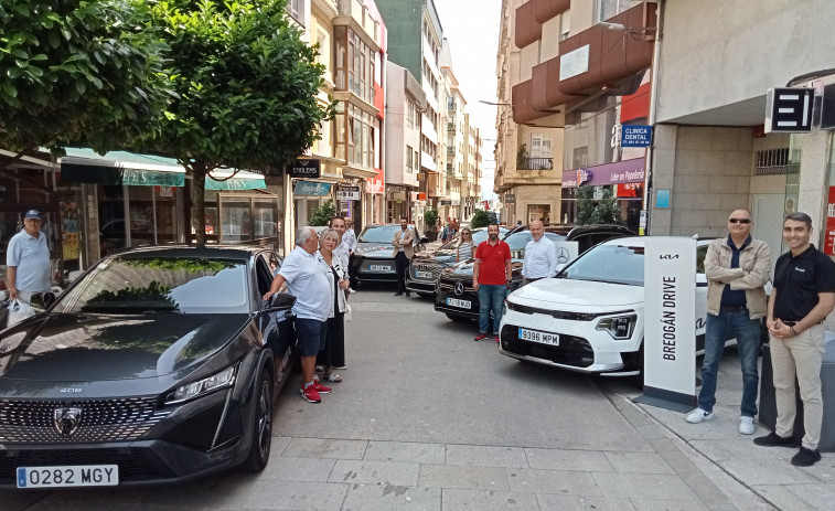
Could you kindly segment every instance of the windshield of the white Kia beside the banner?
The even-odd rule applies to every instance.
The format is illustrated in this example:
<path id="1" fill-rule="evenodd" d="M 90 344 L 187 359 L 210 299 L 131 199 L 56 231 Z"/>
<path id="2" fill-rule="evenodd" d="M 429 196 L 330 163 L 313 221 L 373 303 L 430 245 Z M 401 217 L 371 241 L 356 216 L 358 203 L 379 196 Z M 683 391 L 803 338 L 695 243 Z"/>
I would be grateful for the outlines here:
<path id="1" fill-rule="evenodd" d="M 578 257 L 560 275 L 575 280 L 644 285 L 644 247 L 598 245 Z"/>

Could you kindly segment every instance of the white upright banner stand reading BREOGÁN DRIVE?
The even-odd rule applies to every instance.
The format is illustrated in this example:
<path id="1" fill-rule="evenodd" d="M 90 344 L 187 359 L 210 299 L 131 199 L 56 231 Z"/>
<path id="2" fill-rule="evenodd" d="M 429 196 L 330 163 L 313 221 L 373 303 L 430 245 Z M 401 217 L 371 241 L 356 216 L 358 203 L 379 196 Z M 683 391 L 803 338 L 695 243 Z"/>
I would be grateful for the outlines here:
<path id="1" fill-rule="evenodd" d="M 649 236 L 644 253 L 644 392 L 635 401 L 696 406 L 696 239 Z"/>

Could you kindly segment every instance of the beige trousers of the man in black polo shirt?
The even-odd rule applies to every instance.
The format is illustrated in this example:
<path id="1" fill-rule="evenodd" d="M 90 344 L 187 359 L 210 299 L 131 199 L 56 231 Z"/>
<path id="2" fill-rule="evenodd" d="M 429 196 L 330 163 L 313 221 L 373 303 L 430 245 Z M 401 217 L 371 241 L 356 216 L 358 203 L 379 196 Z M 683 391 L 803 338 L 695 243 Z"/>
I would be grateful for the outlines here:
<path id="1" fill-rule="evenodd" d="M 824 326 L 815 324 L 786 339 L 771 338 L 771 365 L 774 371 L 777 401 L 775 432 L 781 437 L 792 435 L 796 414 L 794 377 L 800 384 L 803 401 L 803 447 L 817 449 L 823 422 L 821 396 L 821 363 L 824 354 Z"/>

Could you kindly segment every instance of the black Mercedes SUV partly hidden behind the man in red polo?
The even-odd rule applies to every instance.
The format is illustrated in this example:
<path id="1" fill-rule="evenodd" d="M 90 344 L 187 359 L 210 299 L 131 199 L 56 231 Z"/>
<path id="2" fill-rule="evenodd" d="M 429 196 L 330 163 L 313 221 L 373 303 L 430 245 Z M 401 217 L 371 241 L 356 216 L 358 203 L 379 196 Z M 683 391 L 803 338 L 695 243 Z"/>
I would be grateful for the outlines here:
<path id="1" fill-rule="evenodd" d="M 545 237 L 553 242 L 577 242 L 578 254 L 582 254 L 598 243 L 620 236 L 634 235 L 621 225 L 553 225 L 545 227 Z M 509 294 L 522 285 L 522 263 L 525 259 L 525 245 L 533 239 L 527 226 L 517 227 L 504 236 L 503 241 L 511 247 L 513 283 Z M 474 260 L 449 266 L 441 272 L 435 289 L 435 310 L 443 312 L 454 321 L 479 318 L 479 294 L 472 288 L 472 267 Z"/>

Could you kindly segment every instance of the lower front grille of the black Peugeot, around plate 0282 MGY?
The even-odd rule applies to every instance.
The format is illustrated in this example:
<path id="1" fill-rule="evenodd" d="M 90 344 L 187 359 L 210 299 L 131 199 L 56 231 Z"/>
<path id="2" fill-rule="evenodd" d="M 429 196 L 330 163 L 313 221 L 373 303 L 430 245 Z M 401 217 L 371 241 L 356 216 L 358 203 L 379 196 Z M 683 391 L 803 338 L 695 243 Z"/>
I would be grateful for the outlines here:
<path id="1" fill-rule="evenodd" d="M 118 465 L 119 482 L 162 480 L 176 476 L 150 449 L 10 449 L 0 456 L 0 485 L 13 486 L 18 467 L 72 465 Z"/>

